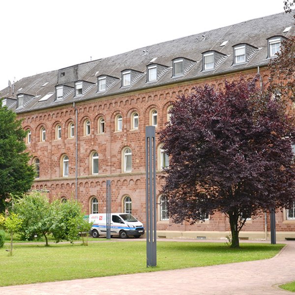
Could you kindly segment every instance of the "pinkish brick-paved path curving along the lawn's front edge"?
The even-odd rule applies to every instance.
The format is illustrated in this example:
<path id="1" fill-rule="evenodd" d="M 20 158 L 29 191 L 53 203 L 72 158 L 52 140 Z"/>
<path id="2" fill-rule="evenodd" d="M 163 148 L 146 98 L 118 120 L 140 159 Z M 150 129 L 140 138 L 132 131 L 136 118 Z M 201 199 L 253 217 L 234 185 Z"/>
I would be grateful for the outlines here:
<path id="1" fill-rule="evenodd" d="M 295 241 L 274 258 L 219 266 L 0 287 L 0 295 L 291 295 Z"/>

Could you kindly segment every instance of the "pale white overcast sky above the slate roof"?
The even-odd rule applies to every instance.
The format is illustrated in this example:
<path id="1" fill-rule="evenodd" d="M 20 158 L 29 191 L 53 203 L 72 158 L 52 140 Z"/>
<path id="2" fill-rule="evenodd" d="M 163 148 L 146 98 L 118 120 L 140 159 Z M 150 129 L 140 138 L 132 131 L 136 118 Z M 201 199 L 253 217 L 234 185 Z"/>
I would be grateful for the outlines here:
<path id="1" fill-rule="evenodd" d="M 283 10 L 283 0 L 1 0 L 0 89 Z"/>

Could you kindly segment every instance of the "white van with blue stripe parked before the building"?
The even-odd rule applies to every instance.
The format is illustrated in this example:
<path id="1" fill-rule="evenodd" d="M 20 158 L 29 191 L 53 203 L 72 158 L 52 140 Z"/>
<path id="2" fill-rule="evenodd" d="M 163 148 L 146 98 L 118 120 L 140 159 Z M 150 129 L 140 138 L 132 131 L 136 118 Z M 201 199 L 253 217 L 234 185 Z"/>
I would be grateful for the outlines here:
<path id="1" fill-rule="evenodd" d="M 107 214 L 89 214 L 89 222 L 93 222 L 90 230 L 91 236 L 107 235 Z M 111 213 L 111 236 L 127 238 L 140 237 L 145 233 L 144 225 L 128 213 Z"/>

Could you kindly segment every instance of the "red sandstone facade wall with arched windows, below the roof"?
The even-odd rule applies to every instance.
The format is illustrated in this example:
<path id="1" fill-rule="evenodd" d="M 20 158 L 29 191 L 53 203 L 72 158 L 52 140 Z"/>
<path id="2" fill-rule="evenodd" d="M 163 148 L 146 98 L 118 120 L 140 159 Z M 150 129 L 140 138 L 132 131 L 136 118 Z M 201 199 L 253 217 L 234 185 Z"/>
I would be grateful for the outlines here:
<path id="1" fill-rule="evenodd" d="M 265 72 L 265 73 L 264 73 Z M 257 73 L 252 70 L 247 73 L 253 77 Z M 267 73 L 262 72 L 263 80 L 267 80 Z M 245 74 L 245 73 L 244 73 Z M 82 203 L 87 214 L 91 213 L 91 200 L 98 200 L 98 212 L 106 211 L 106 180 L 111 180 L 112 211 L 124 211 L 124 198 L 129 196 L 132 201 L 132 214 L 145 223 L 145 127 L 151 124 L 151 110 L 157 111 L 156 131 L 164 128 L 167 122 L 167 112 L 177 95 L 188 94 L 192 87 L 199 83 L 222 85 L 224 78 L 240 75 L 215 77 L 203 81 L 191 81 L 182 85 L 170 85 L 148 91 L 136 91 L 125 95 L 93 99 L 75 105 L 78 111 L 78 178 L 77 200 Z M 75 155 L 76 138 L 70 137 L 69 125 L 75 125 L 75 108 L 72 105 L 56 107 L 39 112 L 27 113 L 23 118 L 24 129 L 31 131 L 28 151 L 32 154 L 32 163 L 36 158 L 40 161 L 39 178 L 34 181 L 32 190 L 44 190 L 50 200 L 75 199 Z M 131 114 L 137 112 L 139 116 L 138 129 L 132 129 Z M 122 130 L 116 131 L 116 116 L 122 116 Z M 104 118 L 104 132 L 99 131 L 99 119 Z M 90 121 L 90 134 L 85 135 L 85 121 Z M 61 138 L 57 139 L 57 128 L 61 126 Z M 41 128 L 46 130 L 46 139 L 41 139 Z M 76 136 L 76 133 L 75 133 Z M 161 174 L 159 163 L 159 141 L 157 145 L 157 175 Z M 132 171 L 124 173 L 123 150 L 132 151 Z M 99 156 L 99 172 L 92 175 L 91 154 L 97 152 Z M 69 159 L 68 176 L 62 176 L 62 158 Z M 157 178 L 157 200 L 159 203 L 161 181 Z M 158 205 L 158 207 L 160 207 Z M 225 238 L 230 230 L 225 215 L 217 213 L 209 216 L 203 223 L 189 225 L 175 224 L 172 220 L 160 219 L 158 208 L 158 236 L 187 236 L 210 238 Z M 282 232 L 279 238 L 295 236 L 295 220 L 286 220 L 286 212 L 276 214 L 277 232 Z M 255 219 L 246 222 L 240 236 L 245 238 L 266 238 L 269 236 L 269 216 L 262 213 Z M 267 233 L 268 232 L 268 233 Z"/>

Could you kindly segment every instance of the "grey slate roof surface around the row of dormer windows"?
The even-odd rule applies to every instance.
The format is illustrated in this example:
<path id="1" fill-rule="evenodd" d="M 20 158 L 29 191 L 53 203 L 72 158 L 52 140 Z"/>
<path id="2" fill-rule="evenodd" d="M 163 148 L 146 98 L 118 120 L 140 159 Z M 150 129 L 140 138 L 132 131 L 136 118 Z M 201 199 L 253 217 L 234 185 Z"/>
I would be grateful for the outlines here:
<path id="1" fill-rule="evenodd" d="M 287 27 L 292 28 L 288 32 L 283 33 Z M 10 103 L 10 108 L 14 109 L 16 113 L 23 113 L 64 104 L 72 104 L 73 102 L 104 97 L 111 94 L 167 85 L 177 81 L 198 79 L 230 71 L 264 66 L 269 61 L 267 59 L 267 38 L 278 35 L 284 37 L 295 35 L 293 13 L 270 15 L 228 27 L 150 45 L 116 56 L 26 77 L 15 83 L 13 94 L 12 89 L 7 87 L 0 91 L 0 97 L 11 98 L 9 100 L 11 102 L 13 99 L 16 99 L 19 93 L 33 95 L 31 99 L 25 102 L 24 107 L 21 109 L 16 109 L 16 103 L 14 107 Z M 226 45 L 221 47 L 221 43 L 227 40 Z M 233 64 L 233 46 L 241 43 L 249 44 L 253 48 L 257 48 L 257 50 L 252 54 L 248 62 Z M 226 56 L 214 70 L 203 71 L 202 53 L 207 51 L 217 51 Z M 173 77 L 172 60 L 179 57 L 190 59 L 194 63 L 183 76 Z M 153 63 L 166 66 L 168 70 L 165 71 L 158 81 L 147 83 L 147 65 L 154 58 L 156 59 Z M 132 69 L 144 74 L 132 86 L 122 88 L 120 78 L 121 72 L 125 69 Z M 105 92 L 97 92 L 97 77 L 101 75 L 117 77 L 119 78 L 118 83 L 115 83 L 113 87 Z M 74 85 L 77 81 L 87 81 L 93 84 L 88 84 L 87 92 L 84 95 L 75 97 Z M 55 101 L 55 95 L 52 95 L 48 100 L 39 102 L 39 99 L 47 93 L 55 92 L 55 86 L 57 85 L 69 86 L 73 90 L 61 101 Z"/>

